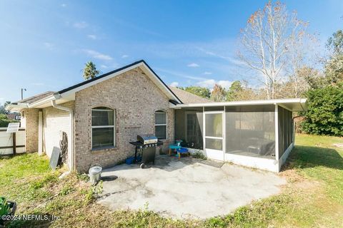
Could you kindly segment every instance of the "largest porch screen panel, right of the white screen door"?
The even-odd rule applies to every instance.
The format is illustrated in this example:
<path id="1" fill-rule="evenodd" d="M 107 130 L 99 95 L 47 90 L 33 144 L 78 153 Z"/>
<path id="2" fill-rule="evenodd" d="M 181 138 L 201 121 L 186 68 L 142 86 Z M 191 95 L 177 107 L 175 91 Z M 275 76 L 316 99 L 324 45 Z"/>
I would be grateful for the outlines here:
<path id="1" fill-rule="evenodd" d="M 275 159 L 274 109 L 274 105 L 227 106 L 225 152 Z"/>

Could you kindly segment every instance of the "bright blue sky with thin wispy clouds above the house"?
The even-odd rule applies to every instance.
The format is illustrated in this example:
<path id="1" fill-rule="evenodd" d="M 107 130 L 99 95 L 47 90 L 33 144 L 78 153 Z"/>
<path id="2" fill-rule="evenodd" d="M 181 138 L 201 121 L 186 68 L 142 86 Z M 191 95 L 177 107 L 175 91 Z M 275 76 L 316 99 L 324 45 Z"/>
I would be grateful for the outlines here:
<path id="1" fill-rule="evenodd" d="M 321 43 L 343 25 L 343 1 L 283 1 L 309 21 Z M 229 86 L 247 79 L 237 67 L 237 36 L 265 1 L 0 2 L 0 103 L 83 81 L 144 59 L 167 84 Z M 323 47 L 324 49 L 324 47 Z"/>

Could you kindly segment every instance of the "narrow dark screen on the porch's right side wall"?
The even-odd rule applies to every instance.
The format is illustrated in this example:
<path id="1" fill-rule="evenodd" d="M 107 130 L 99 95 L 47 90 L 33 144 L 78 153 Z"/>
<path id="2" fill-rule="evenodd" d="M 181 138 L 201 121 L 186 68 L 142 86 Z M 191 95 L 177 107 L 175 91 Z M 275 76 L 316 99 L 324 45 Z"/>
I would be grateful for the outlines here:
<path id="1" fill-rule="evenodd" d="M 279 117 L 279 158 L 281 158 L 293 142 L 293 118 L 291 111 L 280 106 L 277 110 Z"/>

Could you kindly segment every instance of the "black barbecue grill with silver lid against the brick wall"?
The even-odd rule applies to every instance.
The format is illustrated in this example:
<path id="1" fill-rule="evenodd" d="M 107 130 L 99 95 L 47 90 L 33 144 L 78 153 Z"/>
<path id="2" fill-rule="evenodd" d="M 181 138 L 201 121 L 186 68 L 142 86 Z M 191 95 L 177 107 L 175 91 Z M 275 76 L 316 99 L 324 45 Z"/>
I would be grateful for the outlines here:
<path id="1" fill-rule="evenodd" d="M 163 145 L 163 142 L 159 141 L 155 135 L 137 135 L 137 140 L 129 143 L 135 146 L 134 163 L 139 162 L 137 152 L 141 152 L 141 168 L 144 168 L 146 163 L 155 163 L 156 147 Z"/>

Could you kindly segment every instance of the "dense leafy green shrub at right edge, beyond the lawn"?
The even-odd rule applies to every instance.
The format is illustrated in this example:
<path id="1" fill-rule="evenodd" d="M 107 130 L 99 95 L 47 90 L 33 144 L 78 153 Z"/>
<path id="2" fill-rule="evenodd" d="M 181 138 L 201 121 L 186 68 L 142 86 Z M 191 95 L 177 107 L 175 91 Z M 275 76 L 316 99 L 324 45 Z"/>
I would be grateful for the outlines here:
<path id="1" fill-rule="evenodd" d="M 307 92 L 308 110 L 302 129 L 313 135 L 343 136 L 343 84 Z"/>

